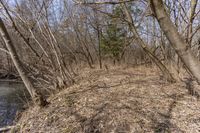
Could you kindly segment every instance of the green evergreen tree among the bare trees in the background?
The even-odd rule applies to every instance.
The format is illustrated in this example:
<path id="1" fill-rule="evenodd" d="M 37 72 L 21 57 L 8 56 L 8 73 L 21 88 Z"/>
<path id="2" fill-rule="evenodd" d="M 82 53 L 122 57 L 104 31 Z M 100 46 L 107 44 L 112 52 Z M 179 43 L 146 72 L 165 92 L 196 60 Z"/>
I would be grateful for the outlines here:
<path id="1" fill-rule="evenodd" d="M 109 55 L 116 61 L 120 61 L 120 56 L 126 42 L 126 30 L 122 23 L 119 22 L 120 15 L 123 15 L 119 6 L 113 9 L 114 17 L 108 23 L 105 33 L 101 37 L 101 49 L 104 55 Z"/>

